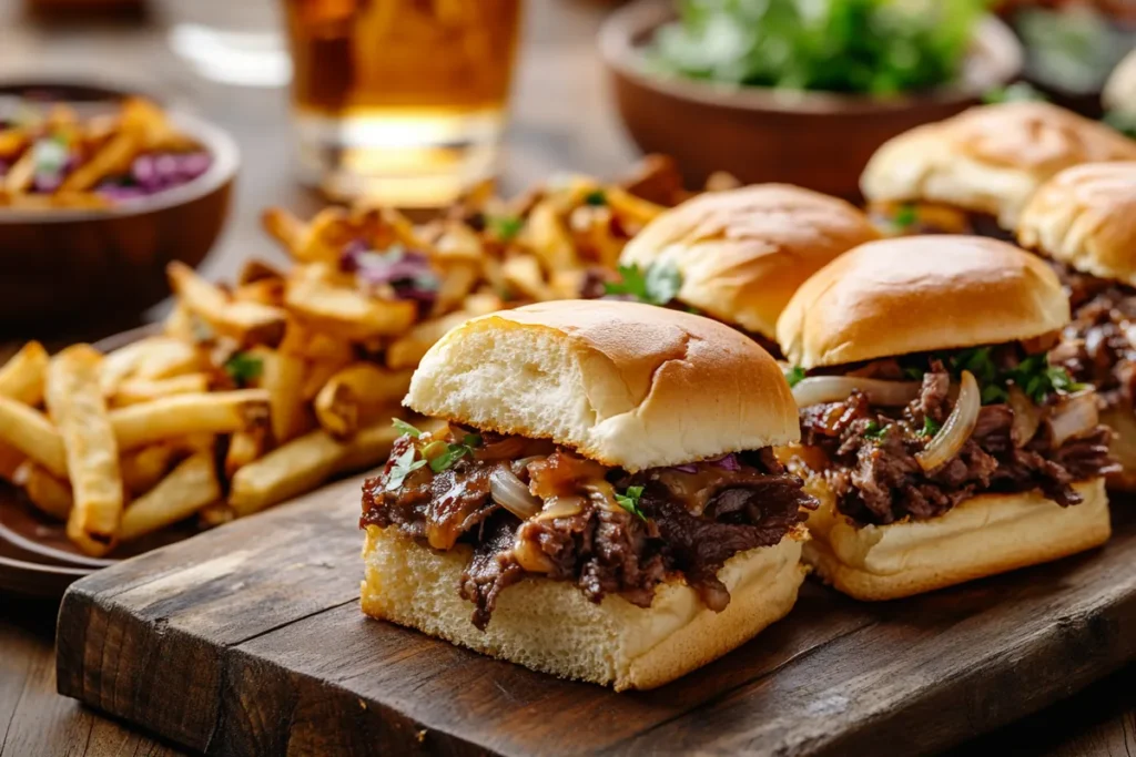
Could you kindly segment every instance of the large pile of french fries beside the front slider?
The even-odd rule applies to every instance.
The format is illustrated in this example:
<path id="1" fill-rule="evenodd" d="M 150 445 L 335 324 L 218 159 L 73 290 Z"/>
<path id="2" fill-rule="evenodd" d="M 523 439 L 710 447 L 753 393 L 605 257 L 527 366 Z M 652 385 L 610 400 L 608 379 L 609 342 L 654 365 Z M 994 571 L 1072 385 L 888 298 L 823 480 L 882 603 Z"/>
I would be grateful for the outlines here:
<path id="1" fill-rule="evenodd" d="M 107 355 L 75 345 L 49 358 L 30 343 L 0 368 L 0 477 L 103 555 L 377 465 L 434 342 L 474 316 L 577 296 L 590 269 L 613 268 L 627 239 L 685 196 L 678 186 L 673 165 L 653 159 L 624 184 L 568 177 L 512 201 L 481 187 L 417 226 L 390 209 L 333 208 L 310 222 L 270 210 L 290 270 L 250 261 L 224 287 L 173 263 L 160 334 Z M 343 266 L 349 245 L 412 251 L 435 288 L 412 301 L 360 283 Z"/>

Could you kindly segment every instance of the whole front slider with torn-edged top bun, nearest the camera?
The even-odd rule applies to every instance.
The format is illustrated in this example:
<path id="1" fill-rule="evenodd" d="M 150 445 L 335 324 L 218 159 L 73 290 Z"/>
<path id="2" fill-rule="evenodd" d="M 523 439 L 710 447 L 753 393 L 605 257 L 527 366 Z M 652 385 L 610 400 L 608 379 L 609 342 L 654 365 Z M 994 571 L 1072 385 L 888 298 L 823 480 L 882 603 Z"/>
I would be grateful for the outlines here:
<path id="1" fill-rule="evenodd" d="M 435 344 L 365 485 L 362 609 L 556 675 L 648 689 L 783 617 L 815 501 L 777 363 L 627 302 L 475 318 Z"/>

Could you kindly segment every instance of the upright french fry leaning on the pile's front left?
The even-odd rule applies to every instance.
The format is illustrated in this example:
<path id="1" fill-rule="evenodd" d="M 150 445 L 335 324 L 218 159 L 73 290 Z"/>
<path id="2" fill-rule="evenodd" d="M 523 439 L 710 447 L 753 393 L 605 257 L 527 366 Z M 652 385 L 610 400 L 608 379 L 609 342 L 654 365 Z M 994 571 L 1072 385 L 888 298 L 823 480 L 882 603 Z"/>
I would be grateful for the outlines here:
<path id="1" fill-rule="evenodd" d="M 118 540 L 123 478 L 118 443 L 99 387 L 102 355 L 85 344 L 67 347 L 48 364 L 44 399 L 67 451 L 75 504 L 67 538 L 90 555 L 103 555 Z"/>

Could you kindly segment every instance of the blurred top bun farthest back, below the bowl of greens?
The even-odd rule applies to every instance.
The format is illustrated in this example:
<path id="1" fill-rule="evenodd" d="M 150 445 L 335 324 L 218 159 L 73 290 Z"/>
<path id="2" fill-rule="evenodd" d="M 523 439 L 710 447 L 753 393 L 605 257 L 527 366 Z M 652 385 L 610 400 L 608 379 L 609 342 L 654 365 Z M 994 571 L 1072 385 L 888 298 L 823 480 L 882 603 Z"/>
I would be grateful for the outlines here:
<path id="1" fill-rule="evenodd" d="M 1046 102 L 971 108 L 876 151 L 860 177 L 872 202 L 930 202 L 989 213 L 1012 229 L 1034 191 L 1086 162 L 1136 160 L 1136 142 Z"/>

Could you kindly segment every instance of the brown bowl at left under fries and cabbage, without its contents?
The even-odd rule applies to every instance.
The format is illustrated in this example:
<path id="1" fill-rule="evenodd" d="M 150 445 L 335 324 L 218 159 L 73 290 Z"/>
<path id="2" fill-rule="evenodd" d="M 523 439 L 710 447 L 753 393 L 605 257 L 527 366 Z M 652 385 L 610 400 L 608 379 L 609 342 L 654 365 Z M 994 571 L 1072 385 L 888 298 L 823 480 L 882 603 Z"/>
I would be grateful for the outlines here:
<path id="1" fill-rule="evenodd" d="M 78 102 L 123 96 L 93 85 L 0 83 L 0 94 L 30 91 Z M 216 126 L 186 113 L 170 118 L 212 154 L 212 166 L 193 182 L 108 210 L 0 208 L 0 331 L 140 312 L 169 294 L 169 261 L 204 259 L 228 215 L 240 157 Z"/>

